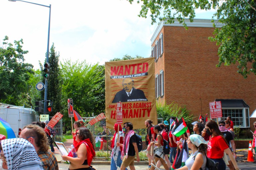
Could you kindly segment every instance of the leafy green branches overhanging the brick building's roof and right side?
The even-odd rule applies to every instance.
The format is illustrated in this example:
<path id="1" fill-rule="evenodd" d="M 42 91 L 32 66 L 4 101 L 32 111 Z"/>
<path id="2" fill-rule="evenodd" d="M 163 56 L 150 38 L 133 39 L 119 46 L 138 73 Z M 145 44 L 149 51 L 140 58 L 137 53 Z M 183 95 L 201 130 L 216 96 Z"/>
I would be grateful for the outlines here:
<path id="1" fill-rule="evenodd" d="M 133 0 L 128 0 L 131 4 Z M 216 13 L 212 18 L 219 20 L 221 29 L 215 28 L 214 36 L 210 40 L 216 41 L 219 45 L 218 67 L 224 63 L 225 66 L 230 64 L 238 65 L 238 73 L 244 78 L 252 72 L 256 75 L 256 3 L 254 0 L 141 0 L 139 17 L 147 18 L 150 10 L 152 24 L 156 19 L 173 23 L 176 18 L 186 27 L 184 18 L 189 18 L 193 22 L 195 10 L 215 9 Z M 138 0 L 137 3 L 140 3 Z M 214 25 L 215 27 L 215 25 Z"/>

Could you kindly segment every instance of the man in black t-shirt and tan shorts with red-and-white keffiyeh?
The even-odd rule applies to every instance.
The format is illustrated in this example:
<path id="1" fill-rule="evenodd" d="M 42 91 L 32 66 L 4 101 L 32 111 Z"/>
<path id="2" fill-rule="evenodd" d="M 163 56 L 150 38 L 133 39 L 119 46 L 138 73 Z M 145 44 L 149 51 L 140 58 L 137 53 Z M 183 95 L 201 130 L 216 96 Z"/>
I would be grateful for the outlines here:
<path id="1" fill-rule="evenodd" d="M 125 122 L 123 131 L 125 132 L 124 143 L 123 144 L 119 142 L 116 143 L 117 146 L 123 147 L 121 152 L 121 159 L 123 159 L 123 162 L 121 164 L 120 169 L 125 170 L 126 167 L 129 166 L 131 170 L 135 170 L 135 167 L 134 167 L 135 154 L 136 154 L 137 162 L 140 161 L 140 157 L 139 157 L 139 151 L 138 151 L 137 142 L 136 142 L 136 135 L 135 135 L 135 132 L 133 131 L 133 124 L 130 122 Z"/>

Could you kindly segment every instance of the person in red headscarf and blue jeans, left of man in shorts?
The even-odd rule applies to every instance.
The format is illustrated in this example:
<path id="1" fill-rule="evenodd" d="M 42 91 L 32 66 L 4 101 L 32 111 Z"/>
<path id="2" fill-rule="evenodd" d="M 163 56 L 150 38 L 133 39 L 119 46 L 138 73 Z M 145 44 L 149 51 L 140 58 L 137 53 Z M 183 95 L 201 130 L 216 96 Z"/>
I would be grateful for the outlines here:
<path id="1" fill-rule="evenodd" d="M 119 130 L 118 130 L 119 126 Z M 112 148 L 112 153 L 111 153 L 111 164 L 110 164 L 110 170 L 117 170 L 117 167 L 121 167 L 122 164 L 122 159 L 121 159 L 121 150 L 123 147 L 117 146 L 117 142 L 120 144 L 123 144 L 123 137 L 124 134 L 122 132 L 122 127 L 121 124 L 116 124 L 114 125 L 114 130 L 115 134 L 113 136 L 112 142 L 111 142 L 111 148 Z M 119 134 L 119 139 L 118 139 L 118 134 Z M 126 168 L 126 170 L 128 170 Z"/>

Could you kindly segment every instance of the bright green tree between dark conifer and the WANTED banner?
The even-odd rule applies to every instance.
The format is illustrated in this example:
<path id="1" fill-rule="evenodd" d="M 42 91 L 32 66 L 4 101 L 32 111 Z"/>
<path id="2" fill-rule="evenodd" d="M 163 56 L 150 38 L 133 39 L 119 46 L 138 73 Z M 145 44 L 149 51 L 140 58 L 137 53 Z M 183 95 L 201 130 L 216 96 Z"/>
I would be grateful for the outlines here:
<path id="1" fill-rule="evenodd" d="M 105 69 L 98 64 L 89 65 L 86 61 L 61 63 L 62 105 L 67 118 L 67 99 L 73 99 L 73 108 L 80 116 L 88 117 L 105 112 Z"/>

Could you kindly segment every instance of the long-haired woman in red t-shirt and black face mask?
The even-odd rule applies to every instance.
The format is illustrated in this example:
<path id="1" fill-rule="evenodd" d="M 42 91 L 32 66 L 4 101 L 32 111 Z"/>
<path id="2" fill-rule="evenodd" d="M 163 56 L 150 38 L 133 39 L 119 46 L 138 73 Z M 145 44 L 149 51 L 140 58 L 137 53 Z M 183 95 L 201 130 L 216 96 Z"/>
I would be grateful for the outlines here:
<path id="1" fill-rule="evenodd" d="M 219 130 L 218 124 L 213 120 L 208 120 L 205 124 L 206 133 L 210 136 L 207 148 L 207 157 L 214 162 L 218 162 L 218 170 L 226 170 L 226 164 L 222 159 L 224 152 L 229 155 L 235 170 L 240 170 L 228 143 Z"/>

